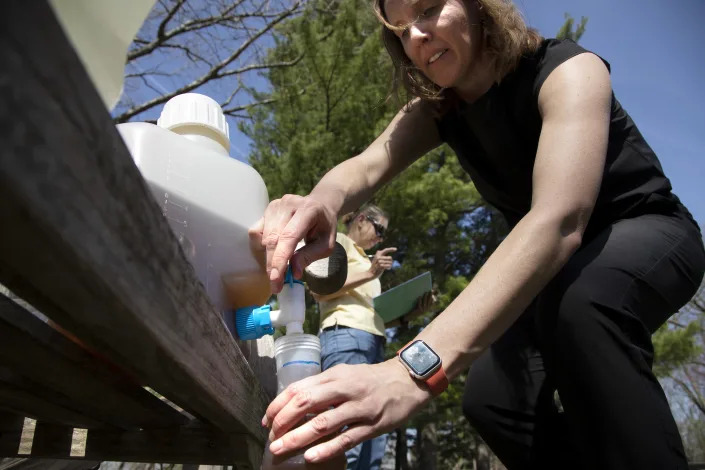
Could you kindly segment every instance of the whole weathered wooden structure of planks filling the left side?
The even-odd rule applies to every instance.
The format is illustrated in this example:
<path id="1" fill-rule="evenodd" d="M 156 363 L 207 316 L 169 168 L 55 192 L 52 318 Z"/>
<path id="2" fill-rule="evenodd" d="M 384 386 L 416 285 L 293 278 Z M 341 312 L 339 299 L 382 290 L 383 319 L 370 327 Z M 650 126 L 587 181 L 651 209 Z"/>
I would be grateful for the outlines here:
<path id="1" fill-rule="evenodd" d="M 0 283 L 32 306 L 0 297 L 0 456 L 259 468 L 271 339 L 227 331 L 49 6 L 0 25 Z"/>

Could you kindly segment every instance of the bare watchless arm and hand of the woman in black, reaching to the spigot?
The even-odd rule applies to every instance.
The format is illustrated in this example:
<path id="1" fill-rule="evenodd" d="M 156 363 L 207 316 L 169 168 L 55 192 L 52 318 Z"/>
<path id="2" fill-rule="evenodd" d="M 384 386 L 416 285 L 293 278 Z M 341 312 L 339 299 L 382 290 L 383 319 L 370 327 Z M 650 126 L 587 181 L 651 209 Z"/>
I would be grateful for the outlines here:
<path id="1" fill-rule="evenodd" d="M 306 197 L 284 196 L 272 201 L 264 222 L 251 236 L 265 245 L 272 291 L 279 292 L 289 260 L 294 276 L 327 256 L 335 241 L 338 214 L 350 212 L 429 150 L 440 145 L 438 129 L 426 104 L 416 100 L 402 110 L 361 154 L 330 170 Z M 294 255 L 297 243 L 304 248 Z"/>

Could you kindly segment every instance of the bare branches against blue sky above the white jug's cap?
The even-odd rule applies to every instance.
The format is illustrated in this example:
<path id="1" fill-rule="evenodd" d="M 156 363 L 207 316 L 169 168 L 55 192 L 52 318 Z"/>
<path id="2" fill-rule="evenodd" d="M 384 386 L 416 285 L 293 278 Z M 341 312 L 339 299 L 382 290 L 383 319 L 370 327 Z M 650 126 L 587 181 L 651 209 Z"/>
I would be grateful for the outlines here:
<path id="1" fill-rule="evenodd" d="M 243 100 L 257 71 L 297 62 L 263 59 L 267 40 L 305 0 L 159 0 L 129 48 L 117 123 L 145 120 L 170 98 L 208 87 L 225 114 L 262 103 Z"/>

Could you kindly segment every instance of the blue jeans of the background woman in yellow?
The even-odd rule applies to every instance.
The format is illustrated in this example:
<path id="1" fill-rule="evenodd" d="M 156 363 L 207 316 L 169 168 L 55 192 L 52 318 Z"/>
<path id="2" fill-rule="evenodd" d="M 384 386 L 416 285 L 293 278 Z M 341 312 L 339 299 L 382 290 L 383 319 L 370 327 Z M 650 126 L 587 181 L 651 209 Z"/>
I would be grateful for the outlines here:
<path id="1" fill-rule="evenodd" d="M 384 338 L 355 328 L 322 331 L 321 367 L 337 364 L 378 364 L 384 360 Z M 377 436 L 345 453 L 348 470 L 379 470 L 387 435 Z"/>

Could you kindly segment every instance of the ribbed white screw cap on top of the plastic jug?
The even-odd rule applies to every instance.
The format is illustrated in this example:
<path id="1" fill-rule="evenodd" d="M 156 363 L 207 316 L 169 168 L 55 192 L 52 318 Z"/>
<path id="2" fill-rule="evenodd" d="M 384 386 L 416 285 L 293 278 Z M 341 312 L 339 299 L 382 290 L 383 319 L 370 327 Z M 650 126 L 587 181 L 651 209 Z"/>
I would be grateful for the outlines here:
<path id="1" fill-rule="evenodd" d="M 200 93 L 184 93 L 167 101 L 157 125 L 169 130 L 182 126 L 204 126 L 221 137 L 225 148 L 230 147 L 228 121 L 223 109 L 213 98 Z"/>

